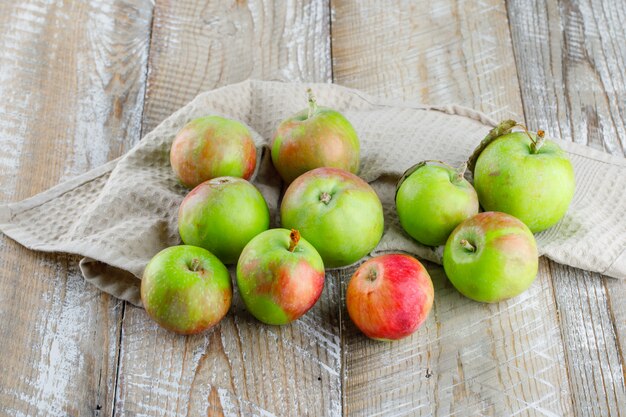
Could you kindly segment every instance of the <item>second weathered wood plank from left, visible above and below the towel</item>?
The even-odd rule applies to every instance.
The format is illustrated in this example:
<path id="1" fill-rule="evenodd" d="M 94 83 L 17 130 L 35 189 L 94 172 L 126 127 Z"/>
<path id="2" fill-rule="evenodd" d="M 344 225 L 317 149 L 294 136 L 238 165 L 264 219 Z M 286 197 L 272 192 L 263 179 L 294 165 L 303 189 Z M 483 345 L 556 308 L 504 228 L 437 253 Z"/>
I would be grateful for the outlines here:
<path id="1" fill-rule="evenodd" d="M 249 77 L 330 81 L 329 22 L 324 1 L 158 2 L 144 130 L 197 93 Z M 127 306 L 116 414 L 340 414 L 339 286 L 327 278 L 315 308 L 280 328 L 251 318 L 238 296 L 195 337 Z"/>

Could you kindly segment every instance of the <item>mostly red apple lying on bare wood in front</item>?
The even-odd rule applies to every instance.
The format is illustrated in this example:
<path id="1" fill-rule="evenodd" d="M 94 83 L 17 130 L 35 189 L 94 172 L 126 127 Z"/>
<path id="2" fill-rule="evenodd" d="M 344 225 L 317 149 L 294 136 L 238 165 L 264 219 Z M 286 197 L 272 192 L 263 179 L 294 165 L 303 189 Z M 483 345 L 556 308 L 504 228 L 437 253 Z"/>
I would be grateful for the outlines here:
<path id="1" fill-rule="evenodd" d="M 352 275 L 346 307 L 367 337 L 397 340 L 415 332 L 433 305 L 434 289 L 426 268 L 402 254 L 377 256 Z"/>

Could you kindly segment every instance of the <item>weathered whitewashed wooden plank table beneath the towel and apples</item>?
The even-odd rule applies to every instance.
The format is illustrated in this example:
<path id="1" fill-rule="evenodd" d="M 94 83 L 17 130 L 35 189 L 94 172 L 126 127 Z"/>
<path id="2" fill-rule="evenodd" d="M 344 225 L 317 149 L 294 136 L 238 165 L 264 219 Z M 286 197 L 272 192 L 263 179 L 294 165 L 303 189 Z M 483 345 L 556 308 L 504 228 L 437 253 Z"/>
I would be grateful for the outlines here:
<path id="1" fill-rule="evenodd" d="M 624 156 L 618 0 L 0 4 L 0 201 L 113 159 L 199 92 L 246 78 L 459 103 Z M 524 295 L 461 297 L 398 343 L 349 322 L 349 271 L 281 328 L 179 337 L 0 237 L 0 414 L 626 415 L 626 281 L 541 259 Z"/>

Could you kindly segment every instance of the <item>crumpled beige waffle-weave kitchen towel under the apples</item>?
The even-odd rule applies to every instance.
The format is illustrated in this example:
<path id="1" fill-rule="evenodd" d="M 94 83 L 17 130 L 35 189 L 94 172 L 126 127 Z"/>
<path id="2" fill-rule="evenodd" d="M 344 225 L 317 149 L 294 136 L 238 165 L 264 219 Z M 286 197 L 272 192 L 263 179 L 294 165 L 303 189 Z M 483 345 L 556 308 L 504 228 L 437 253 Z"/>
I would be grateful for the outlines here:
<path id="1" fill-rule="evenodd" d="M 259 150 L 253 182 L 270 206 L 272 227 L 278 227 L 282 184 L 268 144 L 281 120 L 306 107 L 308 87 L 320 105 L 341 111 L 361 140 L 360 176 L 372 184 L 385 208 L 385 234 L 374 253 L 403 251 L 440 263 L 441 248 L 422 246 L 399 227 L 395 182 L 423 159 L 461 164 L 496 122 L 463 107 L 381 100 L 331 84 L 245 81 L 203 93 L 123 157 L 1 206 L 0 230 L 34 250 L 82 255 L 85 279 L 140 305 L 144 266 L 159 250 L 181 243 L 177 209 L 188 190 L 177 183 L 169 166 L 170 144 L 178 130 L 208 114 L 248 125 Z M 574 165 L 576 193 L 565 218 L 536 235 L 540 252 L 563 264 L 626 278 L 626 159 L 557 142 Z"/>

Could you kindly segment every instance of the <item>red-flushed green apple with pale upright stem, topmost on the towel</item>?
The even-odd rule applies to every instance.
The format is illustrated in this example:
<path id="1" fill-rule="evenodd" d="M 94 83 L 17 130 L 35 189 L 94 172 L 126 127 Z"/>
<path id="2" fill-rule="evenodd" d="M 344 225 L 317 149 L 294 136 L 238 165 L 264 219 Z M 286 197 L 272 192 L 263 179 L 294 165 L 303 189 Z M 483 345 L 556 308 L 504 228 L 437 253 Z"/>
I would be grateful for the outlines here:
<path id="1" fill-rule="evenodd" d="M 279 126 L 272 142 L 272 162 L 286 183 L 319 167 L 354 174 L 359 169 L 359 138 L 338 111 L 318 107 L 311 90 L 309 108 Z"/>

